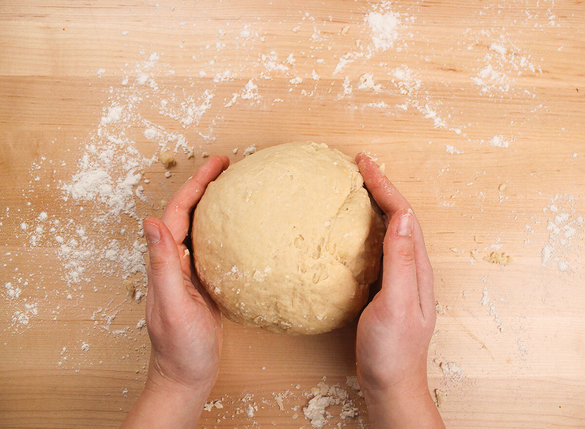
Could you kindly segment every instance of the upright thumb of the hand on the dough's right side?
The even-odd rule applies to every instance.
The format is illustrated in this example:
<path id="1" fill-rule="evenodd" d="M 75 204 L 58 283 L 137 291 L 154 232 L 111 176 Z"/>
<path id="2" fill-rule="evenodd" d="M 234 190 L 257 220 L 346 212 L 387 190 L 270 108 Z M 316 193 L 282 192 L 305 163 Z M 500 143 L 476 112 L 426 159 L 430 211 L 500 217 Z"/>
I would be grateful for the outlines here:
<path id="1" fill-rule="evenodd" d="M 418 306 L 417 267 L 414 260 L 414 213 L 411 209 L 394 213 L 384 237 L 382 291 L 391 306 L 404 309 Z"/>

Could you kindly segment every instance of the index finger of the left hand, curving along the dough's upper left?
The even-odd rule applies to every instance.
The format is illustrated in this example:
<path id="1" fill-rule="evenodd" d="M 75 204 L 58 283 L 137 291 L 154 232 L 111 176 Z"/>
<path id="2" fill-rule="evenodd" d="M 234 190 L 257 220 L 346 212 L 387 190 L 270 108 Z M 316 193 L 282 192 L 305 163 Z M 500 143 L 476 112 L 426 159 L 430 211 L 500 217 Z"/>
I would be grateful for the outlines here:
<path id="1" fill-rule="evenodd" d="M 185 240 L 191 224 L 191 210 L 205 192 L 205 188 L 228 166 L 227 156 L 212 156 L 168 200 L 161 220 L 168 226 L 177 244 Z"/>

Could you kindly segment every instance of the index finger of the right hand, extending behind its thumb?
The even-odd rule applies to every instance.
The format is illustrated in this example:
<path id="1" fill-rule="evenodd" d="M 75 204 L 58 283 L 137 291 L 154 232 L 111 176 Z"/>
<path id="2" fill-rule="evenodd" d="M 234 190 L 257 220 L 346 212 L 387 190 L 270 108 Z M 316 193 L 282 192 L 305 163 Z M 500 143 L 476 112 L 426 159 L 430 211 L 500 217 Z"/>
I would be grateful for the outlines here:
<path id="1" fill-rule="evenodd" d="M 398 189 L 388 180 L 376 162 L 366 154 L 356 156 L 357 165 L 364 178 L 366 188 L 370 191 L 380 209 L 388 217 L 392 217 L 398 210 L 411 209 L 411 205 L 402 196 Z M 425 239 L 421 225 L 414 215 L 413 228 L 414 255 L 417 262 L 417 283 L 419 299 L 423 314 L 431 315 L 435 312 L 435 295 L 433 294 L 433 270 L 431 261 L 426 253 Z"/>

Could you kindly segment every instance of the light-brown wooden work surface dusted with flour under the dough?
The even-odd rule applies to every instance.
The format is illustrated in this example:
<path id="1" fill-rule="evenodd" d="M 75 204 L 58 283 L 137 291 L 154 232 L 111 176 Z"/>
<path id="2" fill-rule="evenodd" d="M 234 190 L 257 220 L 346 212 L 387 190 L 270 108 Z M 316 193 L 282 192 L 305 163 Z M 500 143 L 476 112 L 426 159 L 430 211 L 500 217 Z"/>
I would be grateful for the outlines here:
<path id="1" fill-rule="evenodd" d="M 551 199 L 573 224 L 585 214 L 582 2 L 400 2 L 384 12 L 400 14 L 394 46 L 374 49 L 337 74 L 340 56 L 364 52 L 356 39 L 362 47 L 372 46 L 364 16 L 373 4 L 28 3 L 0 5 L 0 237 L 6 264 L 0 267 L 0 427 L 117 427 L 142 390 L 149 340 L 146 329 L 135 325 L 144 300 L 138 304 L 126 297 L 123 269 L 91 274 L 88 265 L 89 283 L 67 284 L 59 244 L 46 240 L 32 246 L 30 230 L 20 228 L 22 222 L 36 225 L 32 220 L 43 210 L 50 219 L 82 222 L 84 213 L 98 206 L 65 201 L 60 188 L 71 182 L 88 139 L 98 138 L 102 109 L 107 113 L 116 97 L 131 96 L 124 88 L 143 97 L 142 119 L 129 121 L 126 131 L 137 136 L 145 156 L 158 149 L 143 136 L 144 118 L 182 133 L 196 149 L 190 159 L 178 152 L 169 179 L 158 163 L 143 169 L 150 183 L 141 183 L 146 202 L 137 200 L 138 217 L 160 214 L 160 200 L 202 164 L 202 151 L 238 161 L 248 145 L 300 139 L 325 142 L 349 155 L 370 151 L 412 202 L 425 231 L 436 299 L 445 308 L 429 349 L 429 387 L 447 394 L 441 407 L 447 426 L 585 427 L 583 227 L 569 244 L 555 239 L 560 260 L 541 264 L 551 237 L 547 224 L 558 214 L 548 208 Z M 256 35 L 239 36 L 245 25 Z M 492 43 L 506 52 L 498 53 Z M 283 64 L 294 53 L 294 67 L 267 70 L 259 56 L 271 51 Z M 134 64 L 151 52 L 160 57 L 149 70 L 158 92 L 122 86 L 124 76 L 136 79 Z M 472 80 L 487 64 L 504 73 L 507 90 L 483 92 Z M 417 85 L 408 86 L 393 73 L 402 66 Z M 214 82 L 225 69 L 230 78 Z M 311 78 L 312 70 L 319 80 Z M 364 73 L 382 84 L 379 92 L 358 88 Z M 302 83 L 289 82 L 297 76 Z M 350 94 L 343 93 L 346 76 Z M 250 79 L 261 99 L 239 98 L 225 107 Z M 205 89 L 214 98 L 198 124 L 181 124 L 147 103 L 168 98 L 180 107 L 190 96 L 199 100 Z M 368 105 L 380 101 L 386 104 Z M 407 110 L 396 107 L 403 104 Z M 435 124 L 429 111 L 445 125 Z M 495 135 L 509 147 L 491 145 Z M 43 156 L 46 161 L 36 169 Z M 505 189 L 498 190 L 503 183 Z M 115 238 L 128 246 L 136 237 L 136 220 L 122 215 L 116 224 L 90 219 L 85 229 L 90 240 L 100 234 L 102 241 Z M 123 225 L 129 233 L 118 233 Z M 512 256 L 511 264 L 482 259 L 498 249 Z M 473 263 L 471 250 L 479 252 Z M 560 271 L 564 260 L 569 267 Z M 143 284 L 140 273 L 131 278 Z M 19 298 L 8 296 L 6 282 L 19 285 Z M 480 304 L 484 290 L 497 316 L 490 315 L 490 304 Z M 30 302 L 38 302 L 37 315 L 30 314 L 28 325 L 13 322 L 15 312 L 26 311 Z M 111 325 L 101 313 L 96 318 L 99 308 L 108 309 L 106 316 L 116 312 Z M 119 329 L 126 331 L 113 333 Z M 310 427 L 301 408 L 291 410 L 307 403 L 302 392 L 323 376 L 345 386 L 345 377 L 355 374 L 355 324 L 326 335 L 288 337 L 226 322 L 224 335 L 211 399 L 223 398 L 225 407 L 204 411 L 202 427 Z M 81 349 L 84 342 L 88 350 Z M 441 362 L 457 363 L 464 376 L 446 379 Z M 273 393 L 287 389 L 295 396 L 280 411 Z M 253 399 L 242 401 L 246 394 Z M 255 417 L 236 414 L 236 408 L 253 402 L 260 406 Z M 363 403 L 356 399 L 356 404 L 367 422 Z M 295 412 L 297 420 L 291 417 Z M 359 427 L 357 420 L 345 423 Z"/>

